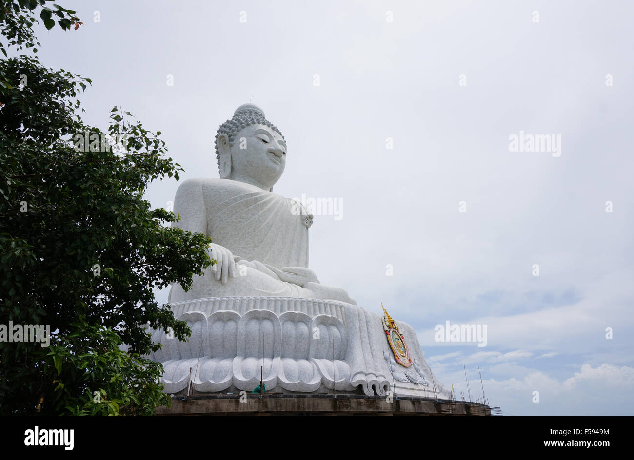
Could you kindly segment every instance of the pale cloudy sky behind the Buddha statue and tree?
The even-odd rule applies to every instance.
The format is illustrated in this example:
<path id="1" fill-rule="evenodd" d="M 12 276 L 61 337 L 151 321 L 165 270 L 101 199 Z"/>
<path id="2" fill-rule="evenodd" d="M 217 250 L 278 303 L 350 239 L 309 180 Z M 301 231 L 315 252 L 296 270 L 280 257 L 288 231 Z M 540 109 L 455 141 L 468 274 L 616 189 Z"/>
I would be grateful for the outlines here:
<path id="1" fill-rule="evenodd" d="M 181 181 L 218 177 L 217 128 L 259 105 L 288 144 L 275 193 L 339 204 L 311 269 L 411 324 L 458 397 L 634 413 L 633 3 L 59 3 L 84 25 L 39 27 L 41 62 L 93 80 L 87 123 L 120 105 L 162 131 Z"/>

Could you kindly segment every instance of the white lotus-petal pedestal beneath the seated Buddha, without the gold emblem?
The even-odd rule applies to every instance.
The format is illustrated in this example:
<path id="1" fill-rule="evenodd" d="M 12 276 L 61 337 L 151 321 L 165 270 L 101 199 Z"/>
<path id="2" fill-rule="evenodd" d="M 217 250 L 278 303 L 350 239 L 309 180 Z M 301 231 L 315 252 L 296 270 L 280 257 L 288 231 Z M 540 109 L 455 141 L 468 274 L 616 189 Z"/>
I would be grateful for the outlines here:
<path id="1" fill-rule="evenodd" d="M 192 334 L 150 355 L 162 362 L 166 393 L 267 390 L 449 398 L 435 380 L 413 329 L 399 323 L 411 366 L 394 361 L 382 316 L 345 302 L 294 297 L 212 297 L 171 304 Z M 263 374 L 263 375 L 262 375 Z"/>

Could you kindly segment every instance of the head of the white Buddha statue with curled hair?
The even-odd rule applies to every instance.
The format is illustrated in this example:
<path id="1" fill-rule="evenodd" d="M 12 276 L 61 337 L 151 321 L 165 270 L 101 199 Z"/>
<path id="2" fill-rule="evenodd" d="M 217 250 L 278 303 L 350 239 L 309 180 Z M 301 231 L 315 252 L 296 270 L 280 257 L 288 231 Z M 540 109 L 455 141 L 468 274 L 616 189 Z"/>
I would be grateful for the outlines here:
<path id="1" fill-rule="evenodd" d="M 218 129 L 216 158 L 221 179 L 272 191 L 284 172 L 286 142 L 261 108 L 243 104 Z"/>

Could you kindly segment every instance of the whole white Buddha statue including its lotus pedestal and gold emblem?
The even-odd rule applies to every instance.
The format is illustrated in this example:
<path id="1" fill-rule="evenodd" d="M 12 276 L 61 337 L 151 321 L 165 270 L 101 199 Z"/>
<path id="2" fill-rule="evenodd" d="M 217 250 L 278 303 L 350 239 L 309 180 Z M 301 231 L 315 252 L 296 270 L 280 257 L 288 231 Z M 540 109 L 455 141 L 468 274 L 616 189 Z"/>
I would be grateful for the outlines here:
<path id="1" fill-rule="evenodd" d="M 220 179 L 188 179 L 174 200 L 175 224 L 211 237 L 217 262 L 187 292 L 172 285 L 190 340 L 152 330 L 165 345 L 150 355 L 164 365 L 165 392 L 190 382 L 198 392 L 250 391 L 263 378 L 275 392 L 447 397 L 411 326 L 359 307 L 308 268 L 313 216 L 273 193 L 287 144 L 260 108 L 242 105 L 221 125 L 216 156 Z"/>

